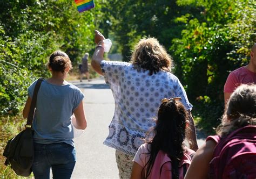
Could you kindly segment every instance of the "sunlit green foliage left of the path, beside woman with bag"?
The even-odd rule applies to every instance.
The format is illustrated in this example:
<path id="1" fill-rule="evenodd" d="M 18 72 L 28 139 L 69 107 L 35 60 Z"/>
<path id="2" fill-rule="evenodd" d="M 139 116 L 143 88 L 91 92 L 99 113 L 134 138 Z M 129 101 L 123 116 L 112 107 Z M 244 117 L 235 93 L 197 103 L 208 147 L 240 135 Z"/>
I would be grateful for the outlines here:
<path id="1" fill-rule="evenodd" d="M 49 76 L 49 55 L 65 51 L 73 63 L 94 44 L 94 13 L 72 1 L 0 1 L 0 115 L 15 115 L 36 77 Z M 98 5 L 99 9 L 100 4 Z M 97 12 L 100 17 L 101 13 Z"/>

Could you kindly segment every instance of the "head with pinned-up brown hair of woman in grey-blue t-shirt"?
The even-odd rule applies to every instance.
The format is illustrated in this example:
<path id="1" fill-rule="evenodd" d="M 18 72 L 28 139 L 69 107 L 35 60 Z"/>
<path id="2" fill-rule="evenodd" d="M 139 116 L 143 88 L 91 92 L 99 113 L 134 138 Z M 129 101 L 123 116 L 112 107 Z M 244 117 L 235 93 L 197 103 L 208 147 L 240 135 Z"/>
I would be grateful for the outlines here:
<path id="1" fill-rule="evenodd" d="M 55 51 L 51 54 L 48 67 L 52 71 L 60 71 L 64 73 L 72 69 L 71 61 L 69 56 L 62 51 Z"/>

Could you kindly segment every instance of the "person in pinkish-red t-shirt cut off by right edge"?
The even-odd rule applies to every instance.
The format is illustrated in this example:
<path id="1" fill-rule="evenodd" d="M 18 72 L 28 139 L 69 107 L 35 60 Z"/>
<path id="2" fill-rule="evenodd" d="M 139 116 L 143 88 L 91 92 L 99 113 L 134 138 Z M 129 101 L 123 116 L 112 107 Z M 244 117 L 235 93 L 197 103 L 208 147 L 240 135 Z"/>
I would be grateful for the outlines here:
<path id="1" fill-rule="evenodd" d="M 225 106 L 232 92 L 240 84 L 256 84 L 256 43 L 252 46 L 250 58 L 251 60 L 248 65 L 231 71 L 230 75 L 228 75 L 224 85 Z"/>

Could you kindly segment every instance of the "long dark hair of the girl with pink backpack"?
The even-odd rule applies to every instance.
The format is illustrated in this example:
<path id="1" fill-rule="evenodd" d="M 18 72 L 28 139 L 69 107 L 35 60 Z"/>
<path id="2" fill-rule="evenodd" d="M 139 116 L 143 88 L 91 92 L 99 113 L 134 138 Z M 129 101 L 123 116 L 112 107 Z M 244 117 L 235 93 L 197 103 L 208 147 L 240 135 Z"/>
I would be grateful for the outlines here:
<path id="1" fill-rule="evenodd" d="M 157 124 L 153 128 L 154 137 L 147 142 L 150 159 L 144 166 L 147 178 L 158 152 L 166 153 L 172 161 L 172 178 L 179 178 L 179 161 L 184 155 L 183 142 L 186 136 L 188 114 L 184 105 L 174 99 L 163 99 L 158 110 Z M 144 170 L 143 170 L 144 171 Z"/>

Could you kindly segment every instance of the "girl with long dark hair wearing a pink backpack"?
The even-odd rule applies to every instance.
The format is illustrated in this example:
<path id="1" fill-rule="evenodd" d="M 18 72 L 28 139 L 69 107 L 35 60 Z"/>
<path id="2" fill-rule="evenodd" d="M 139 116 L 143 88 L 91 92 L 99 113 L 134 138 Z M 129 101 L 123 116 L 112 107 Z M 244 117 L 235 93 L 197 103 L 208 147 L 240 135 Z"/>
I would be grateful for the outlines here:
<path id="1" fill-rule="evenodd" d="M 183 178 L 195 153 L 184 146 L 187 111 L 180 98 L 163 99 L 158 110 L 153 139 L 141 145 L 134 157 L 131 179 Z"/>

